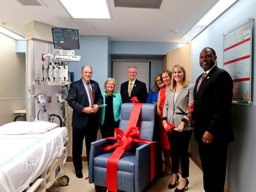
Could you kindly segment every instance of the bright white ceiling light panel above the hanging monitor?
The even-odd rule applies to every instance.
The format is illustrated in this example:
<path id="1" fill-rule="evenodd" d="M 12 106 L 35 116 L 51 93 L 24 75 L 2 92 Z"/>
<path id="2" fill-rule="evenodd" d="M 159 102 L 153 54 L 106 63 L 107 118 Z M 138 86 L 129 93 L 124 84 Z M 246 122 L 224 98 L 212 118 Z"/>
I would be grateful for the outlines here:
<path id="1" fill-rule="evenodd" d="M 110 19 L 106 0 L 59 0 L 67 12 L 77 19 Z"/>

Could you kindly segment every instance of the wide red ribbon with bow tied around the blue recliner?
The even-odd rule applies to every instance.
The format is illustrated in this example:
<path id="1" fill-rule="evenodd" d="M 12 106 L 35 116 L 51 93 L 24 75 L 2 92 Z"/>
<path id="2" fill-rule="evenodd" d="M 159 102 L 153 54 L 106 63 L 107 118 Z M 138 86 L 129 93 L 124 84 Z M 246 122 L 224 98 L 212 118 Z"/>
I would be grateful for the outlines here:
<path id="1" fill-rule="evenodd" d="M 127 128 L 125 129 L 125 132 L 123 132 L 119 128 L 116 128 L 114 137 L 105 138 L 109 140 L 118 140 L 116 143 L 114 143 L 114 145 L 108 145 L 107 147 L 103 148 L 105 151 L 107 151 L 116 147 L 115 151 L 108 158 L 108 163 L 107 163 L 107 190 L 108 191 L 117 191 L 118 161 L 122 156 L 122 154 L 124 154 L 124 151 L 130 147 L 131 142 L 148 143 L 150 145 L 150 181 L 154 179 L 154 176 L 155 176 L 154 142 L 132 138 L 132 137 L 140 136 L 140 130 L 138 127 L 136 127 L 136 125 L 138 122 L 138 118 L 140 116 L 142 105 L 143 104 L 134 104 L 134 106 L 132 107 L 131 116 L 130 116 Z"/>

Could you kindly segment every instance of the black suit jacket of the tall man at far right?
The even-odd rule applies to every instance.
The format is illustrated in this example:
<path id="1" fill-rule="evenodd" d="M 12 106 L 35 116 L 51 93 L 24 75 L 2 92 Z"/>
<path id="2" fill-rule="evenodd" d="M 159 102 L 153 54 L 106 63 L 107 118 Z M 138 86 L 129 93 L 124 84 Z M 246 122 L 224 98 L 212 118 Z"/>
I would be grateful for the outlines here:
<path id="1" fill-rule="evenodd" d="M 201 75 L 202 76 L 202 75 Z M 217 66 L 207 74 L 196 93 L 194 89 L 194 129 L 199 142 L 205 131 L 214 135 L 212 141 L 234 141 L 231 120 L 233 81 L 227 71 Z"/>

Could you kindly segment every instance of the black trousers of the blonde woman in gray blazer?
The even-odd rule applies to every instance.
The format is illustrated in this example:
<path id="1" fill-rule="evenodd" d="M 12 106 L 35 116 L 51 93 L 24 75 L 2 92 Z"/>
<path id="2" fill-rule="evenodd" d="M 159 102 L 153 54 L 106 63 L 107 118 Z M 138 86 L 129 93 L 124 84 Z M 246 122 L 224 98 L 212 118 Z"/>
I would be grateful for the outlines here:
<path id="1" fill-rule="evenodd" d="M 189 154 L 188 147 L 193 130 L 172 131 L 168 133 L 171 147 L 172 172 L 179 172 L 179 159 L 181 165 L 181 175 L 183 178 L 189 177 Z"/>

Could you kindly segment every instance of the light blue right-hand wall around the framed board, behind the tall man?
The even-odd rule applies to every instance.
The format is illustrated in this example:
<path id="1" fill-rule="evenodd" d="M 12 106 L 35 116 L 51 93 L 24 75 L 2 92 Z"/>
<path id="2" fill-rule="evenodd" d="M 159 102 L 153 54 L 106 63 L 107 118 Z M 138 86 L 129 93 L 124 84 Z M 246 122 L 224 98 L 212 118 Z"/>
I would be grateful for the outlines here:
<path id="1" fill-rule="evenodd" d="M 218 67 L 223 68 L 223 33 L 227 33 L 237 25 L 244 22 L 248 17 L 256 15 L 255 0 L 237 1 L 227 12 L 223 13 L 208 28 L 206 28 L 195 40 L 191 42 L 191 81 L 195 83 L 196 78 L 203 70 L 199 65 L 199 54 L 204 47 L 212 47 L 218 56 Z M 255 47 L 255 26 L 253 27 L 252 47 Z M 256 49 L 253 48 L 253 57 Z M 255 60 L 252 63 L 252 84 L 255 85 L 256 67 Z M 229 192 L 255 191 L 256 177 L 256 89 L 253 87 L 253 105 L 232 105 L 232 120 L 235 134 L 234 143 L 230 143 L 228 149 L 227 177 L 225 187 Z M 191 140 L 191 153 L 199 160 L 197 144 Z M 217 170 L 218 171 L 218 170 Z M 191 175 L 193 177 L 193 175 Z"/>

